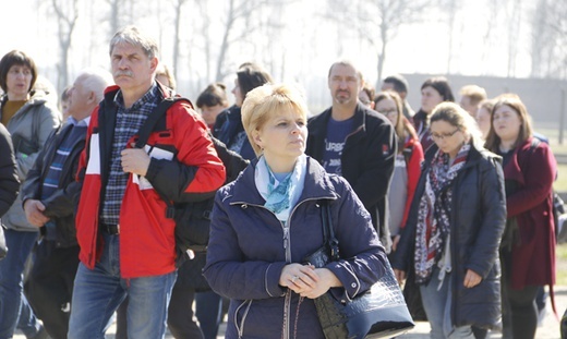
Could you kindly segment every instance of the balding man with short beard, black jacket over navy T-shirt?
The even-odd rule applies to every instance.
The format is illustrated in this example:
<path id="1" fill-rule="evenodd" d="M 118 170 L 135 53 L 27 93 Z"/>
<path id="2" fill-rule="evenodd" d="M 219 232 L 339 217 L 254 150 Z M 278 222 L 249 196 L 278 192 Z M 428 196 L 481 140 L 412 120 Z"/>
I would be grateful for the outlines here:
<path id="1" fill-rule="evenodd" d="M 364 85 L 361 74 L 350 61 L 338 61 L 330 66 L 328 87 L 333 106 L 309 121 L 305 153 L 327 172 L 349 181 L 389 252 L 386 195 L 397 136 L 388 119 L 359 101 Z"/>

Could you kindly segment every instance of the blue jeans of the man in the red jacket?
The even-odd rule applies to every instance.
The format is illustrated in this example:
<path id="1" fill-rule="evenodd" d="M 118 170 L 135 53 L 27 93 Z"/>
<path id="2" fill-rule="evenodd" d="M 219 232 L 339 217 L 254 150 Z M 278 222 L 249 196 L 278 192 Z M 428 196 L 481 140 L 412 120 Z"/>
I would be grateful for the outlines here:
<path id="1" fill-rule="evenodd" d="M 177 273 L 122 279 L 120 235 L 104 234 L 100 262 L 93 270 L 81 263 L 75 277 L 69 339 L 105 338 L 112 314 L 129 296 L 126 312 L 130 338 L 164 338 L 167 308 Z"/>

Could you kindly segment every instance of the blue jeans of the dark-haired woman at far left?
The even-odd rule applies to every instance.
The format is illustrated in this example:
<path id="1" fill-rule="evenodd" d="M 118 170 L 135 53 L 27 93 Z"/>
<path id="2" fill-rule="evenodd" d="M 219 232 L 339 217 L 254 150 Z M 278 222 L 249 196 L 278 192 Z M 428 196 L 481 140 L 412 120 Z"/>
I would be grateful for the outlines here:
<path id="1" fill-rule="evenodd" d="M 33 336 L 34 329 L 40 325 L 35 318 L 27 301 L 22 303 L 24 289 L 24 266 L 38 232 L 22 232 L 4 230 L 8 255 L 0 261 L 0 339 L 12 338 L 20 314 L 23 319 L 23 330 Z"/>

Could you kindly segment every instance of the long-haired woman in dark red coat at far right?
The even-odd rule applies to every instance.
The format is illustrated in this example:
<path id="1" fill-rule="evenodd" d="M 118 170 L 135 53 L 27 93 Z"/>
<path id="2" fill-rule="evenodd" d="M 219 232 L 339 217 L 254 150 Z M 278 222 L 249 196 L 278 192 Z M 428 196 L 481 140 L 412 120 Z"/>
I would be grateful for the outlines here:
<path id="1" fill-rule="evenodd" d="M 533 137 L 517 95 L 496 98 L 491 121 L 486 148 L 504 159 L 508 218 L 500 245 L 503 338 L 534 338 L 538 290 L 555 283 L 555 158 L 547 144 Z"/>

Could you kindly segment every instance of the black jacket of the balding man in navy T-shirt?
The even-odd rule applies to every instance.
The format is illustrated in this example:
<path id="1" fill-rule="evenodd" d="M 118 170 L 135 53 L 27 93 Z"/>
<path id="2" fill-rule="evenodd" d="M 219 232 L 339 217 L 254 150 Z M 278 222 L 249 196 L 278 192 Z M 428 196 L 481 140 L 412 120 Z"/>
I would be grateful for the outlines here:
<path id="1" fill-rule="evenodd" d="M 323 161 L 327 123 L 331 108 L 310 119 L 305 154 Z M 340 158 L 342 177 L 370 213 L 386 251 L 389 252 L 390 234 L 386 225 L 387 193 L 398 141 L 391 123 L 378 112 L 360 102 L 354 111 L 353 131 L 347 136 Z"/>

